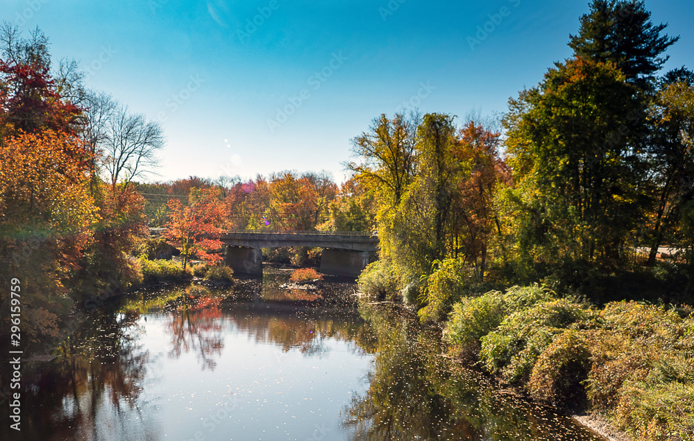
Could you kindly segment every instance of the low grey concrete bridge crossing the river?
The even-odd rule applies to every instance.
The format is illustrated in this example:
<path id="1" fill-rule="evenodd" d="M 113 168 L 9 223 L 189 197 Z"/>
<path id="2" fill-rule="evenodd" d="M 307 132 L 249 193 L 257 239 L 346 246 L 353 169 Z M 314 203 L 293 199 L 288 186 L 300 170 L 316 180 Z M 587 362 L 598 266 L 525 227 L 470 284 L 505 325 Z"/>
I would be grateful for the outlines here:
<path id="1" fill-rule="evenodd" d="M 261 248 L 320 247 L 321 273 L 357 277 L 378 248 L 378 237 L 355 232 L 228 232 L 219 238 L 226 248 L 226 264 L 235 273 L 262 274 Z"/>

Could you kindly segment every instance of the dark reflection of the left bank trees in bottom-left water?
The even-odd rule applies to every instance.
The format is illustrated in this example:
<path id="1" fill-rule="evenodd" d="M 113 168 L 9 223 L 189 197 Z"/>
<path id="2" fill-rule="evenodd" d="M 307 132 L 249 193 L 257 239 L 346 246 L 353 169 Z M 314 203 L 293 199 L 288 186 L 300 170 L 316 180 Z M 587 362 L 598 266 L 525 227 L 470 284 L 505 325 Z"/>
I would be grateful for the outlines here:
<path id="1" fill-rule="evenodd" d="M 130 418 L 130 411 L 139 411 L 149 359 L 149 352 L 137 343 L 137 330 L 133 317 L 118 321 L 113 313 L 100 313 L 68 340 L 76 343 L 60 348 L 58 360 L 49 367 L 37 365 L 37 376 L 27 373 L 21 439 L 103 439 L 96 428 L 104 422 L 133 435 L 157 433 L 146 423 L 134 427 Z M 5 439 L 2 433 L 0 438 Z"/>

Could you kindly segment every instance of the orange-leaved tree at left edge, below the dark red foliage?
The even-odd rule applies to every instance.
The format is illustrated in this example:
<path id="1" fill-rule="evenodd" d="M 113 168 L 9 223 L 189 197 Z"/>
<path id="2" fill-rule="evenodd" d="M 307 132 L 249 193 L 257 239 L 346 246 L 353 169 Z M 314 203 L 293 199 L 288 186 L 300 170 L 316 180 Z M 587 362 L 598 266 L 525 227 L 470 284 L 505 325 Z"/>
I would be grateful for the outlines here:
<path id="1" fill-rule="evenodd" d="M 19 133 L 0 143 L 0 282 L 22 284 L 24 331 L 55 335 L 67 313 L 69 281 L 80 268 L 99 220 L 89 193 L 85 146 L 51 131 Z"/>

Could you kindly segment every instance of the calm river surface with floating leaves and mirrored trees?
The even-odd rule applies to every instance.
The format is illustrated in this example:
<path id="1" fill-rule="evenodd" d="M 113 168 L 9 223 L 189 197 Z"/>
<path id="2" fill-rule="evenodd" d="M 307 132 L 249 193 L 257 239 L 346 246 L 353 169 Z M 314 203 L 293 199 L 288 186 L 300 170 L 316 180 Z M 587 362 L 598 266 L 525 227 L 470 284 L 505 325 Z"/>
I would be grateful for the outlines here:
<path id="1" fill-rule="evenodd" d="M 441 355 L 439 333 L 355 284 L 162 288 L 25 363 L 1 440 L 603 440 Z M 6 378 L 3 368 L 3 378 Z"/>

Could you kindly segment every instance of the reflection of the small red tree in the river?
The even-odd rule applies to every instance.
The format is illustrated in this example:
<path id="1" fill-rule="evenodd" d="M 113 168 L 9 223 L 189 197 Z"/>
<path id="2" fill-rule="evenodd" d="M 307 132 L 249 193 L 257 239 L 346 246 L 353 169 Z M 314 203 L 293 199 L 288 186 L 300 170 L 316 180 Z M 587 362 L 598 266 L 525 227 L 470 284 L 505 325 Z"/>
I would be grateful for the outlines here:
<path id="1" fill-rule="evenodd" d="M 179 358 L 191 350 L 198 354 L 203 370 L 214 370 L 217 361 L 214 356 L 221 355 L 224 347 L 219 309 L 221 299 L 209 295 L 194 295 L 187 290 L 183 302 L 169 313 L 169 332 L 171 334 L 170 358 Z"/>

